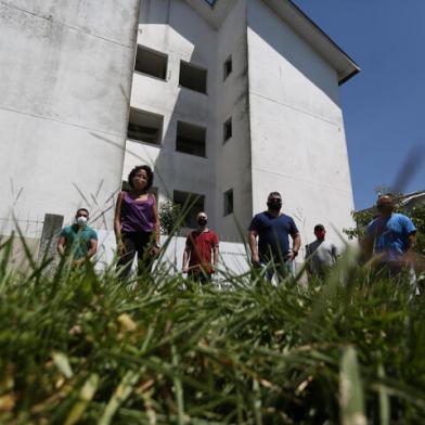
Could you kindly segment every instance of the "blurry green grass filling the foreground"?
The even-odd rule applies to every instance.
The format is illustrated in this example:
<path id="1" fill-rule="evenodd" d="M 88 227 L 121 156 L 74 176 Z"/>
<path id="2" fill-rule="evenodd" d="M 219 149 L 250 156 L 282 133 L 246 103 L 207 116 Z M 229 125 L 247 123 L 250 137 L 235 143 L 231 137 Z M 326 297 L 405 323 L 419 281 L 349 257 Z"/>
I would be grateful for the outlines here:
<path id="1" fill-rule="evenodd" d="M 0 249 L 1 424 L 415 424 L 425 309 L 348 253 L 325 283 L 167 270 L 11 271 Z"/>

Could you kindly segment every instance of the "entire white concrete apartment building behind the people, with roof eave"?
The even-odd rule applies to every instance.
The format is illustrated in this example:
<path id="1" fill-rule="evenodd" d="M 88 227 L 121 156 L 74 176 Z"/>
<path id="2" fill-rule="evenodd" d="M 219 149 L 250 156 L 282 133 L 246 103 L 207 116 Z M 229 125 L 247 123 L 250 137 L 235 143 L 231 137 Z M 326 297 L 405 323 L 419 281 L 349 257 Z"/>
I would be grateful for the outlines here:
<path id="1" fill-rule="evenodd" d="M 4 0 L 0 12 L 0 235 L 14 215 L 36 246 L 44 214 L 69 223 L 85 206 L 111 255 L 116 194 L 141 164 L 159 203 L 196 195 L 188 227 L 204 209 L 228 243 L 271 191 L 304 243 L 318 222 L 335 240 L 351 227 L 338 86 L 359 68 L 289 0 Z"/>

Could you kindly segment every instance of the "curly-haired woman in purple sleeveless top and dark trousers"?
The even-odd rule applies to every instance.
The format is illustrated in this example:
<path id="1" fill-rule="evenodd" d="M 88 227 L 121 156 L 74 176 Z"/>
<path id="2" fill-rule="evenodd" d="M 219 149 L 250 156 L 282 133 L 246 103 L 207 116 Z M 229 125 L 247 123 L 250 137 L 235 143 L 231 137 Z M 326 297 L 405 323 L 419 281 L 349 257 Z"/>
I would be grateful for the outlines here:
<path id="1" fill-rule="evenodd" d="M 159 217 L 155 196 L 149 193 L 153 180 L 151 167 L 134 167 L 128 176 L 131 191 L 118 195 L 114 230 L 119 255 L 117 268 L 123 269 L 123 279 L 130 274 L 136 254 L 140 275 L 151 271 L 159 252 Z"/>

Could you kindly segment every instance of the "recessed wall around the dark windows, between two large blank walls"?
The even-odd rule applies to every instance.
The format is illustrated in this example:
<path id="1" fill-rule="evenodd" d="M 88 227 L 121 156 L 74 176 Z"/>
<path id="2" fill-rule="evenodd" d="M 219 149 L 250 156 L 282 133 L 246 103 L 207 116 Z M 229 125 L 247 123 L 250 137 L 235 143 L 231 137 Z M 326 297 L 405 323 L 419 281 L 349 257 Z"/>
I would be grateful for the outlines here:
<path id="1" fill-rule="evenodd" d="M 191 25 L 188 25 L 188 22 Z M 127 141 L 124 176 L 141 163 L 155 167 L 159 201 L 173 190 L 206 196 L 209 223 L 226 241 L 240 241 L 252 216 L 246 0 L 234 1 L 221 26 L 211 27 L 183 0 L 144 0 L 138 42 L 168 55 L 166 80 L 134 73 L 131 105 L 164 115 L 162 146 Z M 223 63 L 233 70 L 223 80 Z M 179 87 L 180 60 L 208 69 L 207 94 Z M 233 137 L 222 143 L 232 116 Z M 176 152 L 176 127 L 185 120 L 206 127 L 207 157 Z M 234 214 L 223 217 L 223 193 L 233 189 Z"/>

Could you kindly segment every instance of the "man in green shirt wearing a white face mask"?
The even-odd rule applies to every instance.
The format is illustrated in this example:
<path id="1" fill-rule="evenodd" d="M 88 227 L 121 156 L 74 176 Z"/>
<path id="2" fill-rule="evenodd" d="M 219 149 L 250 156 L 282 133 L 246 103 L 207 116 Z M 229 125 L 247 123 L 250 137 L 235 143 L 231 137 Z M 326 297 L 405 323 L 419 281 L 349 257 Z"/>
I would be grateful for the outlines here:
<path id="1" fill-rule="evenodd" d="M 57 253 L 61 257 L 72 256 L 75 266 L 82 265 L 93 257 L 98 250 L 98 234 L 87 222 L 89 211 L 79 208 L 72 226 L 65 227 L 57 241 Z"/>

